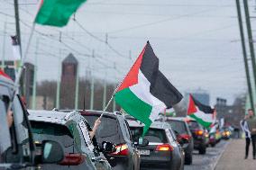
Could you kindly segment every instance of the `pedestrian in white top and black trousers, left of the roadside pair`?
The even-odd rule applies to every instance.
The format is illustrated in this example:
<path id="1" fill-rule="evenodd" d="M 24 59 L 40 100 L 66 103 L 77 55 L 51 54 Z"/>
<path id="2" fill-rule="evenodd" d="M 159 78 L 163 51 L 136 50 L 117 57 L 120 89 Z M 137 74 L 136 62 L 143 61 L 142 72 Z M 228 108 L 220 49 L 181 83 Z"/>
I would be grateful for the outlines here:
<path id="1" fill-rule="evenodd" d="M 251 132 L 248 127 L 247 120 L 249 119 L 249 115 L 245 115 L 244 119 L 240 121 L 240 126 L 242 131 L 245 133 L 245 157 L 244 159 L 247 159 L 248 153 L 249 153 L 249 147 L 251 143 Z"/>

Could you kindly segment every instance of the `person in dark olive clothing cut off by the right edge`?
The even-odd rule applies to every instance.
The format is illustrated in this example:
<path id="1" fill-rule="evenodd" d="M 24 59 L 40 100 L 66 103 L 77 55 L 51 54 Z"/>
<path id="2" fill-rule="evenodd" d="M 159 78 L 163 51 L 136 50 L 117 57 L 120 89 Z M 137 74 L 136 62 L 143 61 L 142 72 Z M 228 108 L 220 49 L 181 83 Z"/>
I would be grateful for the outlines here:
<path id="1" fill-rule="evenodd" d="M 249 109 L 248 110 L 249 119 L 247 120 L 248 128 L 251 132 L 251 144 L 252 144 L 252 157 L 256 159 L 256 118 L 254 116 L 254 112 Z"/>

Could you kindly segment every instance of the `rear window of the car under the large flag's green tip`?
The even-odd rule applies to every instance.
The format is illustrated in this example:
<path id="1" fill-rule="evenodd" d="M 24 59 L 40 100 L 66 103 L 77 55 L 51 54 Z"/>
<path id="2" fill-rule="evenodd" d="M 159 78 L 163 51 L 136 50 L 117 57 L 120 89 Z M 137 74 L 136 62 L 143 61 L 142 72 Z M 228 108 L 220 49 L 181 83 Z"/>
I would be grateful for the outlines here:
<path id="1" fill-rule="evenodd" d="M 143 129 L 141 127 L 130 127 L 132 132 L 133 140 L 138 141 L 140 137 L 142 137 Z M 166 143 L 168 142 L 165 134 L 165 130 L 160 129 L 150 129 L 144 136 L 144 139 L 149 140 L 149 142 L 156 143 Z"/>

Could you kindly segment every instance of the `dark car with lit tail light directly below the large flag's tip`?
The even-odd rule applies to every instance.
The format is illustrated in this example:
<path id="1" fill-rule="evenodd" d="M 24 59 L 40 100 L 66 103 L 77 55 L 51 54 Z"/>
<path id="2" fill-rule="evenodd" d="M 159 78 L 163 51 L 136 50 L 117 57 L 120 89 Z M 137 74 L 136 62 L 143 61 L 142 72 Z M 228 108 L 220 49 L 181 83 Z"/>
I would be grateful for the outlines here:
<path id="1" fill-rule="evenodd" d="M 166 122 L 154 122 L 142 139 L 143 124 L 128 120 L 133 139 L 141 155 L 141 169 L 184 169 L 184 150 Z M 140 145 L 140 140 L 142 144 Z M 143 142 L 143 140 L 147 142 Z"/>

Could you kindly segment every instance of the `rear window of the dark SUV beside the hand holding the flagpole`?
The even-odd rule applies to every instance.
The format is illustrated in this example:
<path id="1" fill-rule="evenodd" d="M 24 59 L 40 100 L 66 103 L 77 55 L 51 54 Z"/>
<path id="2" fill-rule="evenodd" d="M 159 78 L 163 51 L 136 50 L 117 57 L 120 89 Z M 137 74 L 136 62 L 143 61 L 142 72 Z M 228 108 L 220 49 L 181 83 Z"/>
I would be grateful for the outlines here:
<path id="1" fill-rule="evenodd" d="M 88 123 L 91 127 L 94 126 L 96 119 L 99 116 L 96 115 L 86 115 Z M 121 144 L 124 142 L 123 135 L 121 134 L 120 126 L 116 119 L 103 116 L 101 119 L 101 124 L 96 130 L 96 139 L 100 144 L 103 141 L 109 141 L 114 144 Z"/>

